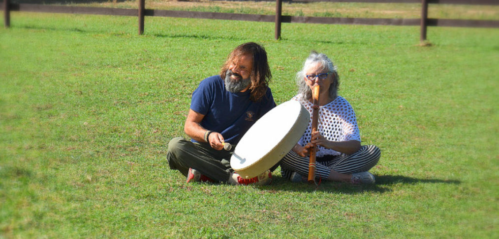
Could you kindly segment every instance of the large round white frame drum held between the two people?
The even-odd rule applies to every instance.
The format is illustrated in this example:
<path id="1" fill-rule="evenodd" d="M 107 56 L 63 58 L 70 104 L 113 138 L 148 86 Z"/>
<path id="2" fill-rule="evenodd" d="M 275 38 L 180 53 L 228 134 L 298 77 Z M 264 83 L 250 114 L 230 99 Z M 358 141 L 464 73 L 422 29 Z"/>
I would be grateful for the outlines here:
<path id="1" fill-rule="evenodd" d="M 232 154 L 231 167 L 243 178 L 265 172 L 293 148 L 309 121 L 310 114 L 298 101 L 276 106 L 243 135 Z"/>

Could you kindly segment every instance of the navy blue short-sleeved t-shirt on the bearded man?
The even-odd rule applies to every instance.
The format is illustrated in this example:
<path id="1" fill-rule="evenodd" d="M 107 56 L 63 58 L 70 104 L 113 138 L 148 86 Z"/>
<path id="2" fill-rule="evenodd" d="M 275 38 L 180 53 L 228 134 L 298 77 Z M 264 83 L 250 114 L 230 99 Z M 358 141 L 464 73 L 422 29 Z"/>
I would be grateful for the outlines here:
<path id="1" fill-rule="evenodd" d="M 191 110 L 205 116 L 201 126 L 221 133 L 231 144 L 237 144 L 251 125 L 274 107 L 270 88 L 259 102 L 252 102 L 250 91 L 229 92 L 220 76 L 201 81 L 191 101 Z"/>

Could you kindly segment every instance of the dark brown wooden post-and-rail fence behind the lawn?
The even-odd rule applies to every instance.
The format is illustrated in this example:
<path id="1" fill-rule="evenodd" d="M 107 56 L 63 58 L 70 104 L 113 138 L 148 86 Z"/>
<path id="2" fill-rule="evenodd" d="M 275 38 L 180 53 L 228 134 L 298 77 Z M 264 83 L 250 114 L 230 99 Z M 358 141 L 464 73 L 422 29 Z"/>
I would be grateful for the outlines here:
<path id="1" fill-rule="evenodd" d="M 305 2 L 366 2 L 366 3 L 421 3 L 421 18 L 349 18 L 349 17 L 313 17 L 282 15 L 282 0 L 275 0 L 274 15 L 239 14 L 223 12 L 200 11 L 171 11 L 146 9 L 144 0 L 137 0 L 137 9 L 108 8 L 108 7 L 80 7 L 43 4 L 11 3 L 3 0 L 3 15 L 5 27 L 10 26 L 10 11 L 34 11 L 55 13 L 79 13 L 138 16 L 139 35 L 144 32 L 144 16 L 206 18 L 222 20 L 243 20 L 275 22 L 275 39 L 280 38 L 282 22 L 285 23 L 321 23 L 321 24 L 361 24 L 361 25 L 420 25 L 420 40 L 426 40 L 428 26 L 458 26 L 458 27 L 499 27 L 499 20 L 471 20 L 471 19 L 437 19 L 428 18 L 428 4 L 471 4 L 471 5 L 499 5 L 499 0 L 299 0 Z"/>

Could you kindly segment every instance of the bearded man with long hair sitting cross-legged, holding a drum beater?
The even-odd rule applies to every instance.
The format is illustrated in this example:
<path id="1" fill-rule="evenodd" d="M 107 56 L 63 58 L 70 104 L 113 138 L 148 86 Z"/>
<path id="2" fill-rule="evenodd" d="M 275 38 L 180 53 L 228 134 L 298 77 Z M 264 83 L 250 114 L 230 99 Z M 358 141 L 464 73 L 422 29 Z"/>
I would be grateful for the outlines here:
<path id="1" fill-rule="evenodd" d="M 170 168 L 179 170 L 187 182 L 269 184 L 270 170 L 251 179 L 240 177 L 230 166 L 235 147 L 224 150 L 224 144 L 236 145 L 257 119 L 275 107 L 268 87 L 271 77 L 262 46 L 249 42 L 236 47 L 220 75 L 204 79 L 194 91 L 184 125 L 191 140 L 170 140 Z"/>

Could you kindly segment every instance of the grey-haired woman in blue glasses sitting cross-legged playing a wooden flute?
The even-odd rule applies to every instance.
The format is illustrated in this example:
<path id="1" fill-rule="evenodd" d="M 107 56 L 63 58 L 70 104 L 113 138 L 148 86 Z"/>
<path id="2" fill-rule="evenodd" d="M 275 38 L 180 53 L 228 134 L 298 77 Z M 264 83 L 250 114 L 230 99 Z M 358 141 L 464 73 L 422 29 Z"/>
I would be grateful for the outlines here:
<path id="1" fill-rule="evenodd" d="M 339 76 L 333 62 L 322 53 L 312 52 L 296 74 L 298 101 L 312 115 L 312 89 L 318 84 L 319 120 L 312 132 L 311 120 L 305 133 L 293 149 L 280 161 L 281 174 L 293 182 L 306 181 L 309 150 L 316 146 L 316 179 L 374 183 L 368 172 L 379 160 L 380 149 L 361 146 L 360 132 L 352 106 L 338 96 Z"/>

